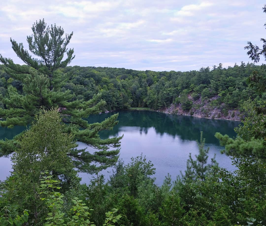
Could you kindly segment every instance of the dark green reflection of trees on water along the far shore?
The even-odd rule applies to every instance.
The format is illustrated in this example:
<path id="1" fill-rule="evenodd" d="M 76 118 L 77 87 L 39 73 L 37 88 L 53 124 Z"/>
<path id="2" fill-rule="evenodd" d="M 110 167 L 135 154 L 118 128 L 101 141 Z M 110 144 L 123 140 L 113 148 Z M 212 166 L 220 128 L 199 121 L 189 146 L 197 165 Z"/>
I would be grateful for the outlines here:
<path id="1" fill-rule="evenodd" d="M 100 122 L 115 113 L 93 115 L 88 120 L 89 122 Z M 240 124 L 237 121 L 194 118 L 153 111 L 120 111 L 118 120 L 118 125 L 112 131 L 102 131 L 100 133 L 102 138 L 118 136 L 121 127 L 140 127 L 140 135 L 142 133 L 147 134 L 148 128 L 152 127 L 157 134 L 167 133 L 173 138 L 178 136 L 182 140 L 197 140 L 200 131 L 203 131 L 206 143 L 219 145 L 219 141 L 214 137 L 214 134 L 220 132 L 234 137 L 236 136 L 234 127 Z"/>

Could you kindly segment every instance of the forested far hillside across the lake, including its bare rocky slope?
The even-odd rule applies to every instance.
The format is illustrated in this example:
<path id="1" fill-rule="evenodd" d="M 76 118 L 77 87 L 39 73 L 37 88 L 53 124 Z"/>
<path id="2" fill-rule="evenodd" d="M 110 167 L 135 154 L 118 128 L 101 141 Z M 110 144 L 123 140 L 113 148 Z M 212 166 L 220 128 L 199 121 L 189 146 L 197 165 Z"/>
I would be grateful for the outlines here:
<path id="1" fill-rule="evenodd" d="M 180 104 L 189 115 L 200 110 L 204 115 L 218 108 L 215 118 L 228 115 L 228 110 L 242 112 L 243 101 L 249 98 L 266 100 L 266 93 L 258 94 L 257 86 L 265 86 L 266 65 L 260 66 L 244 62 L 240 66 L 223 68 L 222 64 L 213 69 L 201 68 L 189 72 L 136 71 L 124 68 L 95 68 L 67 66 L 57 73 L 68 76 L 62 90 L 70 90 L 74 99 L 86 101 L 101 93 L 106 102 L 103 111 L 127 110 L 131 107 L 148 107 L 151 110 L 165 110 L 171 104 Z M 255 86 L 250 85 L 253 72 L 261 76 Z M 22 93 L 22 83 L 9 80 L 3 65 L 0 65 L 1 93 L 7 94 L 11 84 Z M 256 76 L 256 75 L 255 75 Z M 3 106 L 3 103 L 0 102 Z"/>

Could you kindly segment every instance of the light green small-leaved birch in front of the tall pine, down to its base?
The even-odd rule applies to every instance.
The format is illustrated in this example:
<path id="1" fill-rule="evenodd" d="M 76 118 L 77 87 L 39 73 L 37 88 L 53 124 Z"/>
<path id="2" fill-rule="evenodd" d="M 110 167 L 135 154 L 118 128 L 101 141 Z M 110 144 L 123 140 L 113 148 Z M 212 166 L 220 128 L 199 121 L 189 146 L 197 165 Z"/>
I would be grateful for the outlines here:
<path id="1" fill-rule="evenodd" d="M 72 142 L 71 134 L 64 133 L 56 109 L 40 112 L 35 120 L 17 143 L 12 157 L 14 171 L 2 184 L 2 194 L 6 200 L 12 200 L 19 212 L 30 210 L 30 223 L 41 225 L 47 211 L 40 199 L 41 174 L 48 171 L 54 178 L 60 176 L 60 186 L 75 179 L 76 172 L 68 153 L 76 144 Z"/>

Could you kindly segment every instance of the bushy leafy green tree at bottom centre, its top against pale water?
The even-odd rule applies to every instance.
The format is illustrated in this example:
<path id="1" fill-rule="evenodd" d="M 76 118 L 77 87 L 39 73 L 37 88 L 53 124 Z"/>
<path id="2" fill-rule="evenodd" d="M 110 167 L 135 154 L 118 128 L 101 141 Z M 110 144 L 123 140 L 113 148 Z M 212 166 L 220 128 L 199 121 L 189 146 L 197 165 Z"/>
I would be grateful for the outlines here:
<path id="1" fill-rule="evenodd" d="M 118 162 L 109 184 L 114 191 L 111 197 L 116 200 L 115 207 L 122 215 L 120 225 L 160 224 L 158 216 L 153 213 L 157 213 L 161 205 L 160 189 L 151 178 L 154 173 L 153 165 L 142 155 L 132 158 L 126 166 Z"/>

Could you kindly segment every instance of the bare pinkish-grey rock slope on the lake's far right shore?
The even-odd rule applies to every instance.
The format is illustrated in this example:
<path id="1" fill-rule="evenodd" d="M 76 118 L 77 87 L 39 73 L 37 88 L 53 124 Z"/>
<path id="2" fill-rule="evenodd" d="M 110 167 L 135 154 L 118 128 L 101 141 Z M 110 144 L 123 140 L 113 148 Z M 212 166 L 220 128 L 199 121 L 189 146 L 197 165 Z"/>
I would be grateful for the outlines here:
<path id="1" fill-rule="evenodd" d="M 193 107 L 189 111 L 184 111 L 181 104 L 171 104 L 167 110 L 163 111 L 168 114 L 190 115 L 197 118 L 207 119 L 228 119 L 240 121 L 244 118 L 243 112 L 240 112 L 239 110 L 226 110 L 224 104 L 221 104 L 219 108 L 211 106 L 210 101 L 216 100 L 217 98 L 218 97 L 207 99 L 203 103 L 201 98 L 199 98 L 197 101 L 193 101 Z"/>

